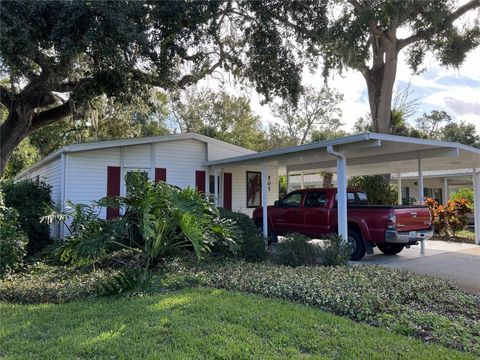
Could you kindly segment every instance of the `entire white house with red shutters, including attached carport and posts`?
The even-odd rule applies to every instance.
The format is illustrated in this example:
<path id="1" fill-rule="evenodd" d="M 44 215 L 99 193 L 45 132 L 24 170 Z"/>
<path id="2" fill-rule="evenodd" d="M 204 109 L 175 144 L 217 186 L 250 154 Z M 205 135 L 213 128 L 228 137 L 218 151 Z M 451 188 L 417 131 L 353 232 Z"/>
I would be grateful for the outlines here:
<path id="1" fill-rule="evenodd" d="M 348 176 L 390 173 L 401 179 L 403 173 L 415 172 L 415 197 L 423 199 L 424 173 L 458 169 L 471 171 L 467 175 L 475 203 L 480 204 L 480 149 L 458 143 L 365 133 L 256 153 L 206 136 L 181 134 L 66 146 L 16 180 L 42 178 L 52 185 L 57 204 L 88 203 L 124 195 L 125 176 L 144 171 L 152 180 L 214 194 L 216 205 L 234 211 L 251 215 L 253 208 L 262 206 L 266 236 L 267 205 L 278 199 L 278 176 L 292 174 L 293 180 L 298 173 L 335 173 L 338 233 L 346 239 Z M 113 209 L 100 213 L 103 218 L 116 215 Z M 480 206 L 475 207 L 475 226 L 480 245 Z M 52 229 L 52 235 L 62 237 L 63 229 Z"/>

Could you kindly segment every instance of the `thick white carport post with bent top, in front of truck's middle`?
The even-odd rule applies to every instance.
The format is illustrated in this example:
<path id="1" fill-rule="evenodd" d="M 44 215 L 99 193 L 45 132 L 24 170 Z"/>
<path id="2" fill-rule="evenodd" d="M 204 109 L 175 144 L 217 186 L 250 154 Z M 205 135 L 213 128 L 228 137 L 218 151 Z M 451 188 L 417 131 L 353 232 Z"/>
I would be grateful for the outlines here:
<path id="1" fill-rule="evenodd" d="M 337 158 L 337 221 L 338 235 L 345 241 L 348 240 L 347 221 L 347 160 L 341 153 L 333 150 L 332 145 L 327 146 L 327 152 Z"/>

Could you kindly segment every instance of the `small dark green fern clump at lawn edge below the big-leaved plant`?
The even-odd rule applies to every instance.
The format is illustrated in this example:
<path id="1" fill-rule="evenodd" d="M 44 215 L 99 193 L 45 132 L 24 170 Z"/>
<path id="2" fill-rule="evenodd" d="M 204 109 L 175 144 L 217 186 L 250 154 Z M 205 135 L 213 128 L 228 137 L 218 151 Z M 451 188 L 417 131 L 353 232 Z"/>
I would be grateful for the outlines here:
<path id="1" fill-rule="evenodd" d="M 125 268 L 116 275 L 100 281 L 96 286 L 99 296 L 118 295 L 134 290 L 145 290 L 151 281 L 151 274 L 141 269 Z"/>

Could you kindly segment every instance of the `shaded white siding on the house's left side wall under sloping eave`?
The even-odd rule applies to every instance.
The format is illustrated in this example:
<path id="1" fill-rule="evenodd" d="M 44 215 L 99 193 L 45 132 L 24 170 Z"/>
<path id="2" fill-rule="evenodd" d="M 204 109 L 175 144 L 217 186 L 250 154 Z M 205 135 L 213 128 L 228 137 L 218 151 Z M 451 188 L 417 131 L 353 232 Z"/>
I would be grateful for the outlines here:
<path id="1" fill-rule="evenodd" d="M 37 179 L 42 180 L 49 184 L 52 187 L 52 200 L 55 205 L 60 205 L 61 202 L 61 159 L 60 157 L 41 166 L 38 169 L 28 172 L 27 176 L 24 176 L 22 179 Z M 50 226 L 50 236 L 56 238 L 59 237 L 59 225 L 53 224 Z"/>

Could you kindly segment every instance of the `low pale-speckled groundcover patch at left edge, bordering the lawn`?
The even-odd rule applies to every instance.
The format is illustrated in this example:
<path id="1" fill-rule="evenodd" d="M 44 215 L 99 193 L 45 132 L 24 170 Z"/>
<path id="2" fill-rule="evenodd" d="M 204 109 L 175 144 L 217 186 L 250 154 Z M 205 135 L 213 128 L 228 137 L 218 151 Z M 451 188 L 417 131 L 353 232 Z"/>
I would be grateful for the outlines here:
<path id="1" fill-rule="evenodd" d="M 98 284 L 117 273 L 115 269 L 81 270 L 35 263 L 0 280 L 0 300 L 38 304 L 93 297 Z"/>

